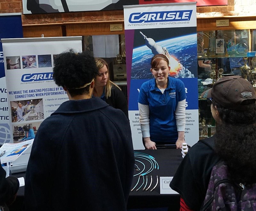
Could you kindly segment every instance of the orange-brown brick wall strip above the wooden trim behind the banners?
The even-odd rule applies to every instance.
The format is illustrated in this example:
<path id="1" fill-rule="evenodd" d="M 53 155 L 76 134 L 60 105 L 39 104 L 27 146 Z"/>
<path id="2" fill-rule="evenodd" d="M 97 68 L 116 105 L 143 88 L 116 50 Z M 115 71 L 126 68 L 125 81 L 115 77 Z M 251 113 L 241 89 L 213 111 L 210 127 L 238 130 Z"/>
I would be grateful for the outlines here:
<path id="1" fill-rule="evenodd" d="M 22 0 L 1 0 L 1 13 L 23 12 Z M 197 7 L 197 17 L 255 16 L 256 6 L 252 0 L 228 0 L 227 6 Z M 94 20 L 123 20 L 123 11 L 68 12 L 37 15 L 22 15 L 22 24 L 84 22 Z"/>

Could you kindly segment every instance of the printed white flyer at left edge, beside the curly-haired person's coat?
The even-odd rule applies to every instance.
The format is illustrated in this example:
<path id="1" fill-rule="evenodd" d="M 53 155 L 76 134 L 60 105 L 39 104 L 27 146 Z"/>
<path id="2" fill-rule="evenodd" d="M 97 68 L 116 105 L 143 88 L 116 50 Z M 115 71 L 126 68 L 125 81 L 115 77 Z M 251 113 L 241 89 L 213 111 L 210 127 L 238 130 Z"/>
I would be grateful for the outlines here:
<path id="1" fill-rule="evenodd" d="M 0 148 L 1 163 L 12 162 L 16 160 L 22 153 L 24 153 L 34 141 L 30 139 L 28 141 L 22 141 L 16 144 L 4 143 Z"/>

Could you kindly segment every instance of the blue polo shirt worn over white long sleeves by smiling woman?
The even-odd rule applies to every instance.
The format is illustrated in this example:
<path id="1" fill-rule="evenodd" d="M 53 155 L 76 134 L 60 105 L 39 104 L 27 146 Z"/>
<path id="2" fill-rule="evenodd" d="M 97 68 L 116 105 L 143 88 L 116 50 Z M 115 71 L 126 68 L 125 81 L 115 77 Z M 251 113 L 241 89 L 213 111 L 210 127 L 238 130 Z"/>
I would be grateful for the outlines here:
<path id="1" fill-rule="evenodd" d="M 149 106 L 150 139 L 154 142 L 175 143 L 178 138 L 175 110 L 178 102 L 186 99 L 184 83 L 168 77 L 164 94 L 157 88 L 153 78 L 140 87 L 138 102 Z"/>

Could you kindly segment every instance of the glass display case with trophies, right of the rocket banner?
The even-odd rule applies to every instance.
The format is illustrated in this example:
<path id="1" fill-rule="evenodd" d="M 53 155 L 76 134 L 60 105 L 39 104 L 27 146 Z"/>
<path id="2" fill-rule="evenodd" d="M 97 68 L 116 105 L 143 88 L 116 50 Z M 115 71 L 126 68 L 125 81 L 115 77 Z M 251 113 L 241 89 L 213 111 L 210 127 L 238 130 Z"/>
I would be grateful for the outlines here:
<path id="1" fill-rule="evenodd" d="M 199 136 L 215 133 L 210 105 L 202 93 L 220 77 L 240 75 L 256 90 L 256 30 L 197 32 Z M 207 128 L 207 129 L 206 129 Z"/>

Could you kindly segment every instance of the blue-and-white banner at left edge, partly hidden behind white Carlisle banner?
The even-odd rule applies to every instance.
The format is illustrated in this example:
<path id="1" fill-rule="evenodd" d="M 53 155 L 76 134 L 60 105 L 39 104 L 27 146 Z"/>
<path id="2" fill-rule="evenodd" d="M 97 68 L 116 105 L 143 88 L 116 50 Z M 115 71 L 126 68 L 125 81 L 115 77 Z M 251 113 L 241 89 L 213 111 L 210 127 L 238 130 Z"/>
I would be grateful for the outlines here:
<path id="1" fill-rule="evenodd" d="M 0 39 L 22 37 L 21 13 L 0 14 Z M 2 42 L 0 42 L 0 144 L 12 142 L 9 119 L 4 54 Z"/>

